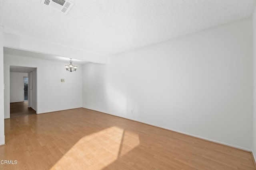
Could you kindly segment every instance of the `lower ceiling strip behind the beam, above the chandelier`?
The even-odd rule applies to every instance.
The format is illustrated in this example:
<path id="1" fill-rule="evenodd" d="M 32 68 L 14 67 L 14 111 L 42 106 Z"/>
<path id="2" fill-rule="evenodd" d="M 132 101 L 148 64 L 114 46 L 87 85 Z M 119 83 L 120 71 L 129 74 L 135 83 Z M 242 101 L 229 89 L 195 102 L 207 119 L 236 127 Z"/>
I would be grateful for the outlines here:
<path id="1" fill-rule="evenodd" d="M 69 64 L 70 59 L 66 57 L 60 57 L 56 55 L 49 55 L 49 54 L 42 54 L 42 53 L 35 53 L 32 51 L 24 51 L 19 49 L 11 49 L 4 47 L 4 54 L 7 55 L 17 55 L 21 57 L 31 57 L 35 59 L 43 59 L 43 60 L 52 60 L 52 61 L 60 61 L 60 62 L 66 62 Z M 74 61 L 74 64 L 86 64 L 88 62 L 72 59 Z"/>

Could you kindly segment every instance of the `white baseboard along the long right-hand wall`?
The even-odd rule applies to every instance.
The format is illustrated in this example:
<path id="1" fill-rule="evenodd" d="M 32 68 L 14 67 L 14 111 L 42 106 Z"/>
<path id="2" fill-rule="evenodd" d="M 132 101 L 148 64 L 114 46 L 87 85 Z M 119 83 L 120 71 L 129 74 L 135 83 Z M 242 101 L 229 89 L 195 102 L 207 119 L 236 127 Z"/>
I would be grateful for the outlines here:
<path id="1" fill-rule="evenodd" d="M 83 107 L 83 108 L 89 109 L 89 108 L 86 108 L 86 107 Z M 93 110 L 93 109 L 90 109 L 90 110 Z M 95 110 L 95 111 L 97 111 L 97 110 Z M 99 112 L 102 112 L 102 111 L 99 111 Z M 102 112 L 102 113 L 104 113 L 104 112 Z M 113 114 L 110 114 L 110 113 L 107 113 L 107 114 L 113 115 Z M 114 116 L 118 116 L 118 115 L 114 115 Z M 121 116 L 118 116 L 118 117 L 121 117 Z M 122 118 L 129 119 L 129 118 L 126 118 L 126 117 L 122 117 Z M 138 120 L 134 120 L 134 119 L 129 119 L 129 120 L 138 121 Z M 213 139 L 208 139 L 208 138 L 205 138 L 205 137 L 200 137 L 200 136 L 193 135 L 193 134 L 190 134 L 190 133 L 186 133 L 186 132 L 182 132 L 182 131 L 177 131 L 175 129 L 171 129 L 171 128 L 167 128 L 167 127 L 162 127 L 162 126 L 159 126 L 159 125 L 154 125 L 152 123 L 148 123 L 148 122 L 144 122 L 144 121 L 138 121 L 138 122 L 145 123 L 147 125 L 152 125 L 152 126 L 160 127 L 160 128 L 167 129 L 167 130 L 170 130 L 170 131 L 182 133 L 184 135 L 189 135 L 189 136 L 192 136 L 192 137 L 197 137 L 197 138 L 200 138 L 200 139 L 204 139 L 206 141 L 211 141 L 211 142 L 214 142 L 214 143 L 219 143 L 219 144 L 226 145 L 226 146 L 229 146 L 229 147 L 234 147 L 234 148 L 237 148 L 237 149 L 242 149 L 242 150 L 246 150 L 248 152 L 252 152 L 252 149 L 247 149 L 247 148 L 244 148 L 244 147 L 238 147 L 236 145 L 231 145 L 231 144 L 220 142 L 220 141 L 216 141 L 216 140 L 213 140 Z"/>

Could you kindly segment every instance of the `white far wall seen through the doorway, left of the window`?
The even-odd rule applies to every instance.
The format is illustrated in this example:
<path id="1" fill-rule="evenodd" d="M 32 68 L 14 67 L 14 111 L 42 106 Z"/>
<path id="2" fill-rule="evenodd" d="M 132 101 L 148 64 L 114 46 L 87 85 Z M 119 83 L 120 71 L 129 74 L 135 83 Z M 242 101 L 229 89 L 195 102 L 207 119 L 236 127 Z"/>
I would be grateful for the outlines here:
<path id="1" fill-rule="evenodd" d="M 10 72 L 10 103 L 24 101 L 24 77 L 28 73 Z"/>

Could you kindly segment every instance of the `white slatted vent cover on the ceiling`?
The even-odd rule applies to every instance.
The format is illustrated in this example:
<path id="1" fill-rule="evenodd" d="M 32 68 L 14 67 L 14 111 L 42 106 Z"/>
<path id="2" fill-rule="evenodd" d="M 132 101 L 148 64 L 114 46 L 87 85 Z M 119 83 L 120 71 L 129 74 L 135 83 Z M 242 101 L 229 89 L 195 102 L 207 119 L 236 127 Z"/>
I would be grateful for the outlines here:
<path id="1" fill-rule="evenodd" d="M 64 14 L 67 14 L 70 8 L 74 5 L 73 2 L 68 0 L 41 0 L 41 4 L 50 6 Z"/>

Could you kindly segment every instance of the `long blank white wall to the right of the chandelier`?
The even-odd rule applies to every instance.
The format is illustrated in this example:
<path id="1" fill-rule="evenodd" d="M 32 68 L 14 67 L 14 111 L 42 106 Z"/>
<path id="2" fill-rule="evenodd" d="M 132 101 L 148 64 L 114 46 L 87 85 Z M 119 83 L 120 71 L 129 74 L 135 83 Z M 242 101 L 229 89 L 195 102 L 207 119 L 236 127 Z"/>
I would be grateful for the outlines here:
<path id="1" fill-rule="evenodd" d="M 83 66 L 83 107 L 252 149 L 252 19 Z"/>

